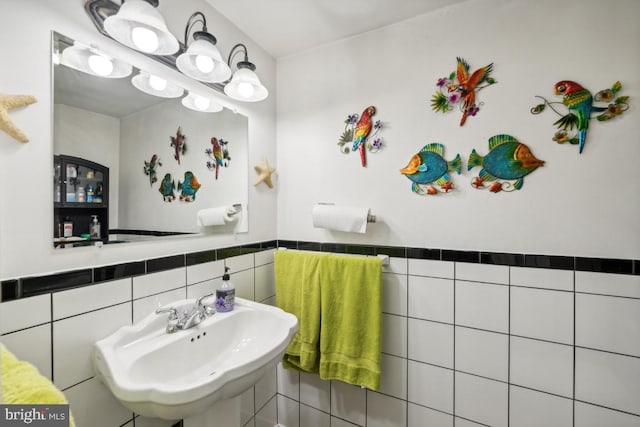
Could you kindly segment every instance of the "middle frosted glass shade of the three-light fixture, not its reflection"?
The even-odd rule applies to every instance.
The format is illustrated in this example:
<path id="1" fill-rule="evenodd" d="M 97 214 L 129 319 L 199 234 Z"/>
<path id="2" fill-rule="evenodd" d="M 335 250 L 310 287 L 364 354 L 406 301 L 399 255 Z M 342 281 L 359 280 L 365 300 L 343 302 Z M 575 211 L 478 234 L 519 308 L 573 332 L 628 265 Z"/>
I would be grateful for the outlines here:
<path id="1" fill-rule="evenodd" d="M 206 69 L 209 62 L 207 58 L 213 62 L 211 70 Z M 176 65 L 185 75 L 203 82 L 219 83 L 231 77 L 231 69 L 222 59 L 220 51 L 206 39 L 194 40 L 187 51 L 178 57 Z"/>

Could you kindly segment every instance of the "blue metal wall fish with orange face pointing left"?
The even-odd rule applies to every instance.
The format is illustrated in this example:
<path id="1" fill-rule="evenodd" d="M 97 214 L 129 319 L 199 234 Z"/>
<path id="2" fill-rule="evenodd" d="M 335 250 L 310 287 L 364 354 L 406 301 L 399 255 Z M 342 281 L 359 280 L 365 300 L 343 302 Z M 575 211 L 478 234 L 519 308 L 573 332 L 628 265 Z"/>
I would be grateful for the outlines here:
<path id="1" fill-rule="evenodd" d="M 429 184 L 437 184 L 447 193 L 453 188 L 448 172 L 455 171 L 460 174 L 462 169 L 460 154 L 456 154 L 455 159 L 450 162 L 447 162 L 443 155 L 444 146 L 442 144 L 427 144 L 411 158 L 407 166 L 400 169 L 401 174 L 413 181 L 411 191 L 424 194 L 424 190 L 420 186 Z M 426 192 L 427 194 L 437 194 L 438 190 L 433 185 L 429 185 Z"/>

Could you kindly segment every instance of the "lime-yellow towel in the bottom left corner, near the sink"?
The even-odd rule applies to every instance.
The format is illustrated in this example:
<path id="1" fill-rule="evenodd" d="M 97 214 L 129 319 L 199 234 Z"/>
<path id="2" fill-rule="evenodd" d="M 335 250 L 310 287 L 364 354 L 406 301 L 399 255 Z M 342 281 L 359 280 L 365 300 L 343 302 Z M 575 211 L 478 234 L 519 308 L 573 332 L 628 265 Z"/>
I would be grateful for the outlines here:
<path id="1" fill-rule="evenodd" d="M 0 344 L 1 402 L 4 404 L 66 404 L 64 394 L 29 362 L 18 360 Z M 74 427 L 69 410 L 69 426 Z"/>

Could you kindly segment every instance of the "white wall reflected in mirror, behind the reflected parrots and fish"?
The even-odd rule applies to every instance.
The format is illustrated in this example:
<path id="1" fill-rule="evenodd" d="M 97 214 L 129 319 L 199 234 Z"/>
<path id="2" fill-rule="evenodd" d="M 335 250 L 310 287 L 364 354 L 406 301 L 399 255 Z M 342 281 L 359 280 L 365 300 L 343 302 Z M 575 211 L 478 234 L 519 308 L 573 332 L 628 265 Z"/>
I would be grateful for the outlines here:
<path id="1" fill-rule="evenodd" d="M 174 159 L 170 136 L 181 128 L 185 136 L 186 152 L 180 155 L 180 164 Z M 248 165 L 247 118 L 225 109 L 218 113 L 200 113 L 182 106 L 179 99 L 169 100 L 145 110 L 123 117 L 120 145 L 120 210 L 117 228 L 133 230 L 199 232 L 196 224 L 200 209 L 229 206 L 235 203 L 247 206 Z M 212 148 L 211 137 L 224 139 L 231 161 L 220 167 L 218 179 L 206 163 L 210 158 L 205 149 Z M 157 154 L 162 166 L 157 168 L 158 181 L 149 185 L 149 177 L 142 173 L 144 161 Z M 191 171 L 201 187 L 195 200 L 179 200 L 178 181 Z M 166 173 L 175 182 L 176 199 L 165 202 L 158 191 Z M 114 177 L 114 179 L 118 179 Z M 243 218 L 244 219 L 244 218 Z M 112 227 L 114 228 L 114 227 Z M 241 221 L 236 231 L 247 231 Z"/>

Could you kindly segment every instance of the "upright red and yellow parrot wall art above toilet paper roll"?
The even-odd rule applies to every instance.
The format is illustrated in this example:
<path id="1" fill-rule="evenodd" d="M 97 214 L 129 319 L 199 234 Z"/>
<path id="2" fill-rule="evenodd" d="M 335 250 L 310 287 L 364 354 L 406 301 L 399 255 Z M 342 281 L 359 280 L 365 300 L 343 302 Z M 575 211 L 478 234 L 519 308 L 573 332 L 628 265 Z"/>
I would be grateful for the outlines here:
<path id="1" fill-rule="evenodd" d="M 367 166 L 366 152 L 375 153 L 382 147 L 382 139 L 376 137 L 382 124 L 380 120 L 373 121 L 374 114 L 376 114 L 376 107 L 373 105 L 365 108 L 360 116 L 350 114 L 344 121 L 344 132 L 338 140 L 338 146 L 343 153 L 348 154 L 358 150 L 362 167 Z"/>

